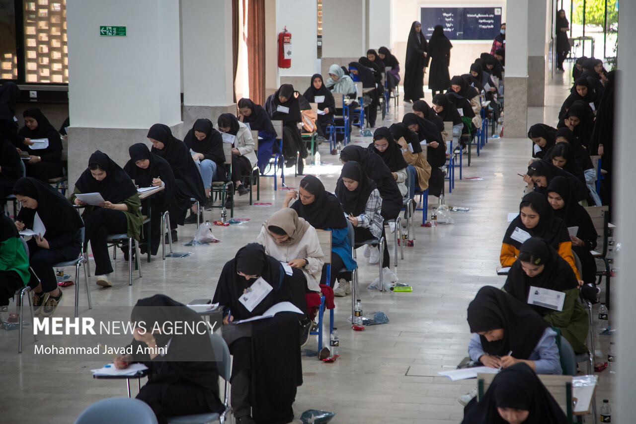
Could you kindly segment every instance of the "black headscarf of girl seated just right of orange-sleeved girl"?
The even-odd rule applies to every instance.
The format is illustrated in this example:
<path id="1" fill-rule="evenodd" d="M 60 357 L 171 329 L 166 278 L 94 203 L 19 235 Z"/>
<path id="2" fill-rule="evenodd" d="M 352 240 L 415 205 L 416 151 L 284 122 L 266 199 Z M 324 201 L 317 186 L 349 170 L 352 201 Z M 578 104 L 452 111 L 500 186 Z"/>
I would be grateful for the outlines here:
<path id="1" fill-rule="evenodd" d="M 579 227 L 576 236 L 584 241 L 586 248 L 594 249 L 597 246 L 597 230 L 594 228 L 588 211 L 577 202 L 572 201 L 571 190 L 569 182 L 558 176 L 550 181 L 546 193 L 556 193 L 563 199 L 565 204 L 561 209 L 554 209 L 555 216 L 561 218 L 566 227 Z"/>

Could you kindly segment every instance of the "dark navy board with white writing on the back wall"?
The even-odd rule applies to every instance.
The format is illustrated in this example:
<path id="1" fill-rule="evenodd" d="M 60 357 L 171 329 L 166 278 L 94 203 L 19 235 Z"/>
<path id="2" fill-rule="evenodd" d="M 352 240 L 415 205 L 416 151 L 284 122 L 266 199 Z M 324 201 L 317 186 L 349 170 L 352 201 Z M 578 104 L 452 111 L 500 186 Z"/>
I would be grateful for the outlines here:
<path id="1" fill-rule="evenodd" d="M 422 32 L 431 39 L 435 25 L 443 25 L 449 39 L 492 40 L 501 27 L 501 7 L 422 7 Z"/>

